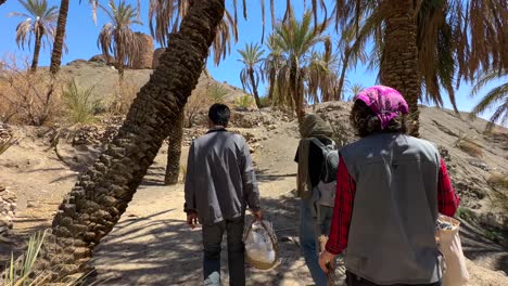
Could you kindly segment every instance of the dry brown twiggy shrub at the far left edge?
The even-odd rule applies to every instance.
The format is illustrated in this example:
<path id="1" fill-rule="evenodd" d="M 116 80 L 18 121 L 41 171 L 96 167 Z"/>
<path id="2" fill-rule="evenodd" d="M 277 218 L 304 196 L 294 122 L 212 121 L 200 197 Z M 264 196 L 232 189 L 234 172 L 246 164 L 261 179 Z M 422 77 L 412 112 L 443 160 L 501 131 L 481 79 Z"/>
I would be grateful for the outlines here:
<path id="1" fill-rule="evenodd" d="M 15 57 L 0 64 L 0 120 L 42 126 L 59 116 L 62 81 L 27 70 Z"/>

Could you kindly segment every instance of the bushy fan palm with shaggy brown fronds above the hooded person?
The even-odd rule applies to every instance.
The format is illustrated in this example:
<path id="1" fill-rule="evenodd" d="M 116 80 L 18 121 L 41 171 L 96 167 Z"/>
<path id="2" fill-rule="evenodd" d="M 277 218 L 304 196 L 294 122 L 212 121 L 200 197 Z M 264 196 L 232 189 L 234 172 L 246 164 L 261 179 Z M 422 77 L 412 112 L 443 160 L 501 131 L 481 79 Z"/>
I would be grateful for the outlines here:
<path id="1" fill-rule="evenodd" d="M 296 92 L 319 102 L 317 91 L 331 92 L 336 83 L 336 57 L 332 55 L 330 38 L 323 35 L 330 22 L 325 20 L 315 26 L 312 11 L 306 11 L 301 21 L 294 17 L 291 9 L 289 11 L 269 37 L 270 53 L 265 61 L 267 77 L 271 75 L 274 82 L 270 84 L 275 84 L 277 90 L 275 102 L 293 106 L 295 94 L 291 94 L 294 92 L 290 88 L 292 84 Z M 325 46 L 322 53 L 314 50 L 318 43 Z M 297 82 L 292 82 L 294 80 Z"/>

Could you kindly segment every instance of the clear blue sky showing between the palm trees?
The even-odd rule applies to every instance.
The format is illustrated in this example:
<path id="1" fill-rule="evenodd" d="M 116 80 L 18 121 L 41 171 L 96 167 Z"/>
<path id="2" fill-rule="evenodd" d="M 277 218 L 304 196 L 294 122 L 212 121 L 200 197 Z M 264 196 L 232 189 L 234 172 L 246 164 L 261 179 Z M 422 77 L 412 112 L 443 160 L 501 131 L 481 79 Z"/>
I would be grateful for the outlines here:
<path id="1" fill-rule="evenodd" d="M 50 5 L 59 5 L 60 0 L 48 0 Z M 78 0 L 71 1 L 71 8 L 68 13 L 68 23 L 67 23 L 67 38 L 66 43 L 68 48 L 68 53 L 63 56 L 62 63 L 68 63 L 69 61 L 76 58 L 88 60 L 92 55 L 99 54 L 100 50 L 97 47 L 97 37 L 100 32 L 101 27 L 107 22 L 107 16 L 102 11 L 98 14 L 98 24 L 97 26 L 92 22 L 91 17 L 91 8 L 88 5 L 88 0 L 82 0 L 82 3 L 79 4 Z M 106 0 L 102 1 L 106 3 Z M 128 2 L 135 3 L 135 0 Z M 148 27 L 148 0 L 142 0 L 141 6 L 141 20 L 143 26 L 135 25 L 132 29 L 136 31 L 143 31 L 150 34 Z M 231 4 L 232 1 L 227 1 L 228 4 Z M 241 1 L 238 1 L 239 3 Z M 266 1 L 268 4 L 268 1 Z M 293 1 L 302 3 L 302 1 Z M 307 3 L 310 1 L 307 1 Z M 328 1 L 331 2 L 331 1 Z M 247 42 L 258 42 L 262 37 L 262 13 L 258 1 L 249 0 L 247 14 L 249 20 L 239 23 L 239 41 L 233 43 L 231 47 L 231 53 L 224 60 L 218 67 L 213 65 L 213 61 L 208 61 L 207 68 L 209 69 L 212 76 L 218 81 L 227 81 L 230 84 L 241 87 L 240 82 L 240 70 L 242 69 L 242 64 L 238 61 L 239 54 L 238 49 L 245 47 Z M 278 17 L 281 17 L 285 1 L 276 1 L 276 13 Z M 24 51 L 17 48 L 14 38 L 15 38 L 15 27 L 24 18 L 22 17 L 8 17 L 11 12 L 24 12 L 22 5 L 17 0 L 8 0 L 5 4 L 0 6 L 0 57 L 9 56 L 10 54 L 15 54 L 17 58 L 27 56 L 31 60 L 31 50 L 25 49 Z M 269 10 L 267 6 L 267 18 L 266 18 L 266 30 L 270 30 L 270 18 Z M 303 12 L 302 4 L 295 5 L 296 15 L 301 15 Z M 239 11 L 241 14 L 241 8 Z M 335 35 L 332 35 L 335 37 Z M 155 43 L 158 47 L 157 43 Z M 41 51 L 39 65 L 47 66 L 50 63 L 50 49 L 45 49 Z M 353 83 L 360 83 L 364 87 L 369 87 L 376 83 L 377 70 L 369 72 L 363 65 L 357 65 L 354 68 L 351 68 L 347 73 L 347 78 Z M 487 87 L 488 88 L 488 87 Z M 470 110 L 474 103 L 478 102 L 477 99 L 471 99 L 469 96 L 470 84 L 462 83 L 460 89 L 456 92 L 457 95 L 457 105 L 460 110 Z M 265 87 L 259 88 L 259 93 L 264 94 Z M 348 95 L 348 94 L 346 94 Z M 446 95 L 444 96 L 446 99 Z M 424 103 L 427 104 L 427 103 Z M 432 104 L 431 104 L 432 105 Z M 449 108 L 450 105 L 448 101 L 445 102 L 445 107 Z M 485 116 L 487 116 L 486 114 Z"/>

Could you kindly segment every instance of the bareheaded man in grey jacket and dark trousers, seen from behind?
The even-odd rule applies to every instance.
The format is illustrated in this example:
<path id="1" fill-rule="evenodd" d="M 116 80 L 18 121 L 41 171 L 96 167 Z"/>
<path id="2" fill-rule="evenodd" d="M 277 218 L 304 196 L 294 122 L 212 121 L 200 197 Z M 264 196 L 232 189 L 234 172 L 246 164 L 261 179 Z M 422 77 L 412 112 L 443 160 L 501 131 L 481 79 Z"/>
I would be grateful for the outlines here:
<path id="1" fill-rule="evenodd" d="M 209 108 L 209 131 L 192 142 L 186 177 L 187 222 L 203 225 L 203 274 L 205 285 L 220 285 L 220 243 L 228 239 L 230 285 L 245 285 L 244 245 L 242 242 L 245 209 L 262 219 L 259 191 L 249 146 L 239 134 L 226 130 L 228 106 Z"/>

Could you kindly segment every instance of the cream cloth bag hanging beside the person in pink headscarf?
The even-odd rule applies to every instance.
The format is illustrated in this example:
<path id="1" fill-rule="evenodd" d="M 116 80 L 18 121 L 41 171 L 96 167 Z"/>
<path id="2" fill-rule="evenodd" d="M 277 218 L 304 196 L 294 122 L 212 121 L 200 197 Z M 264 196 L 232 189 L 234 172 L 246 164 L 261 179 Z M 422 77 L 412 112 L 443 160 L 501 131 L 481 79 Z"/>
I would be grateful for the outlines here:
<path id="1" fill-rule="evenodd" d="M 440 214 L 437 219 L 437 245 L 445 261 L 443 286 L 462 286 L 469 281 L 459 226 L 460 222 L 454 218 Z"/>

